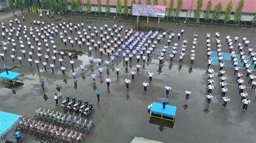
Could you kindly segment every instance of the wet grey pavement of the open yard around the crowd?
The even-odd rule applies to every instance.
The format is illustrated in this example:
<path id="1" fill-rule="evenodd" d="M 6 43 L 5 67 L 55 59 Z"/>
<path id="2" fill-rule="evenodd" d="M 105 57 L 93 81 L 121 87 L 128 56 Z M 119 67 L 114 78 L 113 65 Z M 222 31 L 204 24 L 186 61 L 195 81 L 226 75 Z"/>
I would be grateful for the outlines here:
<path id="1" fill-rule="evenodd" d="M 30 15 L 29 15 L 30 16 Z M 26 23 L 29 24 L 29 20 L 34 18 L 39 19 L 37 16 L 26 16 Z M 45 18 L 45 17 L 44 17 Z M 22 19 L 19 17 L 19 19 Z M 48 22 L 51 19 L 45 18 Z M 57 20 L 57 23 L 62 22 L 61 17 Z M 70 20 L 67 18 L 66 20 Z M 76 18 L 77 22 L 81 22 L 82 19 Z M 73 22 L 75 23 L 75 22 Z M 136 23 L 131 22 L 114 22 L 108 20 L 91 19 L 87 20 L 85 25 L 96 25 L 97 27 L 122 24 L 125 28 L 134 28 Z M 32 25 L 32 24 L 31 24 Z M 156 23 L 149 24 L 149 27 L 157 28 Z M 140 23 L 140 27 L 144 30 L 146 24 Z M 255 91 L 251 91 L 251 85 L 247 83 L 246 78 L 246 91 L 248 97 L 251 99 L 251 104 L 248 106 L 246 112 L 242 112 L 242 103 L 240 103 L 240 96 L 238 95 L 237 83 L 234 81 L 233 68 L 225 67 L 228 83 L 228 92 L 226 95 L 230 96 L 231 101 L 227 103 L 225 109 L 221 107 L 223 99 L 220 96 L 220 86 L 218 74 L 218 66 L 213 66 L 215 70 L 215 83 L 213 90 L 212 102 L 210 106 L 207 106 L 205 102 L 205 96 L 207 95 L 205 87 L 207 84 L 207 75 L 205 70 L 207 69 L 206 58 L 206 33 L 211 32 L 212 38 L 216 31 L 220 32 L 221 41 L 225 41 L 227 34 L 231 37 L 238 35 L 239 40 L 246 36 L 250 40 L 250 45 L 254 45 L 254 51 L 256 50 L 256 42 L 253 41 L 256 37 L 254 29 L 250 28 L 231 28 L 231 27 L 207 27 L 207 26 L 186 26 L 176 24 L 163 24 L 159 27 L 163 30 L 170 32 L 173 31 L 177 34 L 182 28 L 185 30 L 183 38 L 188 39 L 188 46 L 186 50 L 185 59 L 181 65 L 181 69 L 178 69 L 178 60 L 174 60 L 171 67 L 169 59 L 165 59 L 163 67 L 160 67 L 159 73 L 159 61 L 152 57 L 142 65 L 140 73 L 136 74 L 135 80 L 131 82 L 130 89 L 125 88 L 125 78 L 131 78 L 130 71 L 134 69 L 136 60 L 134 59 L 129 68 L 123 67 L 122 58 L 116 61 L 114 65 L 110 66 L 110 69 L 106 69 L 106 65 L 103 65 L 103 76 L 99 77 L 97 71 L 98 65 L 95 62 L 93 66 L 90 66 L 87 56 L 87 49 L 64 47 L 61 41 L 56 41 L 57 49 L 65 49 L 72 51 L 77 56 L 75 60 L 75 71 L 77 73 L 78 82 L 74 84 L 71 76 L 71 66 L 68 63 L 69 58 L 65 56 L 64 65 L 66 65 L 66 75 L 63 76 L 59 70 L 59 64 L 55 67 L 58 70 L 57 73 L 52 74 L 50 69 L 44 71 L 43 69 L 36 69 L 35 65 L 30 68 L 29 63 L 23 62 L 23 65 L 19 65 L 18 60 L 16 63 L 11 62 L 10 57 L 6 57 L 6 61 L 0 61 L 1 66 L 7 63 L 12 70 L 24 74 L 24 83 L 10 85 L 7 83 L 0 83 L 0 110 L 5 112 L 16 113 L 23 117 L 33 117 L 35 110 L 39 107 L 53 108 L 61 112 L 67 112 L 60 106 L 54 104 L 54 93 L 56 92 L 56 84 L 61 85 L 62 95 L 68 95 L 89 101 L 95 104 L 95 110 L 89 115 L 89 119 L 95 123 L 95 128 L 91 130 L 91 133 L 85 135 L 84 142 L 130 142 L 133 136 L 144 137 L 152 140 L 163 142 L 255 142 Z M 190 65 L 190 50 L 193 34 L 198 34 L 198 44 L 196 48 L 196 60 L 194 65 Z M 15 37 L 16 38 L 16 37 Z M 3 38 L 1 37 L 2 41 Z M 213 41 L 213 40 L 212 40 Z M 178 42 L 180 45 L 182 40 L 175 39 L 171 43 Z M 160 44 L 165 45 L 166 40 L 161 40 Z M 75 44 L 76 45 L 76 44 Z M 214 49 L 214 42 L 212 47 Z M 9 45 L 10 47 L 10 45 Z M 225 48 L 224 48 L 225 47 Z M 234 46 L 237 47 L 237 46 Z M 10 48 L 9 48 L 10 49 Z M 236 50 L 236 48 L 234 48 Z M 1 48 L 1 51 L 3 49 Z M 81 51 L 81 52 L 79 52 Z M 223 51 L 228 52 L 228 47 L 223 44 Z M 44 55 L 43 51 L 43 55 Z M 99 53 L 93 55 L 95 58 L 99 56 Z M 57 58 L 58 59 L 58 58 Z M 107 56 L 104 55 L 104 60 Z M 96 61 L 97 59 L 95 59 Z M 85 73 L 79 68 L 79 65 L 83 62 L 85 65 Z M 112 70 L 118 65 L 121 69 L 120 76 L 116 76 L 116 71 Z M 43 66 L 41 65 L 41 68 Z M 96 84 L 92 83 L 91 73 L 95 70 L 97 74 Z M 148 72 L 152 70 L 154 72 L 152 82 L 149 82 Z M 245 71 L 241 70 L 245 75 Z M 255 73 L 255 71 L 253 71 Z M 107 75 L 111 79 L 110 89 L 107 90 L 105 78 Z M 39 85 L 39 78 L 43 78 L 46 83 L 45 91 L 42 91 L 41 85 Z M 147 80 L 149 87 L 147 92 L 143 92 L 142 83 Z M 176 121 L 172 125 L 170 122 L 161 121 L 157 119 L 150 119 L 149 112 L 147 112 L 147 105 L 152 102 L 161 102 L 161 98 L 165 95 L 164 87 L 166 84 L 171 85 L 171 92 L 169 97 L 170 105 L 177 106 Z M 98 88 L 102 91 L 100 95 L 100 102 L 97 102 L 95 89 Z M 190 99 L 185 101 L 185 90 L 191 89 Z M 59 102 L 61 102 L 60 100 Z M 69 112 L 68 112 L 69 113 Z M 72 113 L 72 112 L 71 112 Z M 12 138 L 11 131 L 7 137 L 9 140 L 15 140 Z M 22 138 L 25 142 L 36 142 L 33 137 L 28 134 L 22 134 Z"/>

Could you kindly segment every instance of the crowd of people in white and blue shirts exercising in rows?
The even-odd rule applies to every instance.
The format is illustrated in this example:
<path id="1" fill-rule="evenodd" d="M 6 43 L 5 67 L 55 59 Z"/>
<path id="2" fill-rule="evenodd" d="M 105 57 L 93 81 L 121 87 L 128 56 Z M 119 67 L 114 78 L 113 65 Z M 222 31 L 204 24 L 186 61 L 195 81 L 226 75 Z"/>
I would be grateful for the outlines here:
<path id="1" fill-rule="evenodd" d="M 40 16 L 42 19 L 42 15 Z M 23 18 L 23 21 L 25 19 Z M 44 70 L 47 71 L 51 69 L 52 73 L 56 73 L 56 67 L 59 67 L 60 71 L 62 71 L 63 76 L 66 75 L 67 68 L 71 67 L 72 70 L 71 76 L 73 77 L 74 82 L 77 82 L 77 74 L 75 72 L 75 61 L 73 60 L 72 52 L 65 52 L 64 48 L 71 47 L 72 48 L 87 48 L 86 51 L 89 55 L 89 62 L 92 66 L 95 61 L 97 61 L 99 76 L 103 76 L 103 65 L 106 65 L 106 69 L 108 70 L 110 64 L 112 63 L 115 66 L 114 70 L 116 70 L 117 77 L 119 77 L 120 68 L 115 65 L 119 60 L 123 60 L 124 66 L 128 67 L 129 62 L 136 59 L 137 72 L 132 70 L 131 79 L 135 80 L 135 75 L 140 73 L 140 63 L 145 64 L 146 60 L 151 58 L 151 54 L 156 49 L 157 44 L 161 40 L 165 40 L 167 43 L 163 49 L 161 49 L 161 53 L 158 56 L 159 65 L 163 65 L 165 58 L 170 58 L 170 62 L 173 62 L 173 59 L 177 55 L 178 43 L 174 43 L 172 47 L 171 41 L 175 38 L 175 33 L 169 34 L 169 37 L 166 38 L 166 32 L 159 33 L 158 31 L 148 31 L 148 32 L 139 32 L 134 31 L 133 29 L 126 29 L 124 26 L 117 26 L 116 24 L 112 26 L 104 25 L 100 27 L 90 25 L 85 25 L 84 23 L 59 23 L 59 24 L 46 24 L 44 21 L 33 20 L 33 26 L 27 27 L 26 25 L 21 24 L 21 22 L 15 18 L 15 22 L 11 19 L 8 24 L 2 23 L 2 36 L 4 39 L 3 42 L 3 51 L 0 52 L 1 58 L 3 61 L 11 60 L 12 62 L 16 62 L 16 58 L 20 65 L 23 65 L 25 61 L 27 61 L 30 67 L 36 65 L 36 68 L 39 69 L 43 66 Z M 181 30 L 177 33 L 177 39 L 180 40 L 184 34 L 184 30 Z M 190 64 L 193 65 L 194 60 L 196 59 L 196 46 L 197 46 L 197 34 L 194 34 L 194 38 L 192 40 L 192 49 L 190 51 Z M 207 84 L 207 104 L 211 103 L 211 99 L 213 98 L 212 90 L 214 89 L 213 77 L 214 70 L 212 68 L 212 59 L 211 59 L 211 34 L 207 33 L 206 35 L 206 46 L 207 46 L 207 58 L 208 58 L 208 84 Z M 238 42 L 238 37 L 234 37 L 234 43 Z M 59 47 L 55 44 L 55 41 L 60 40 Z M 184 39 L 183 44 L 181 44 L 181 53 L 179 55 L 179 65 L 183 62 L 185 51 L 187 49 L 187 40 Z M 223 97 L 223 108 L 226 107 L 230 98 L 226 96 L 227 83 L 225 82 L 227 77 L 225 76 L 224 66 L 225 63 L 223 60 L 223 53 L 221 52 L 221 42 L 220 42 L 220 34 L 218 32 L 215 33 L 215 42 L 217 45 L 217 53 L 219 60 L 219 76 L 220 76 L 220 86 L 221 86 L 221 97 Z M 242 77 L 242 73 L 239 71 L 239 60 L 237 58 L 237 54 L 234 51 L 233 40 L 230 35 L 226 37 L 227 45 L 230 49 L 231 53 L 231 61 L 234 65 L 234 74 L 237 75 L 236 81 L 238 82 L 239 94 L 242 96 L 241 102 L 244 103 L 243 111 L 246 111 L 248 104 L 251 102 L 246 96 L 248 95 L 245 91 L 244 78 Z M 253 51 L 252 47 L 248 47 L 250 43 L 247 38 L 242 38 L 242 43 L 238 44 L 238 54 L 240 55 L 240 62 L 243 63 L 243 66 L 247 72 L 246 78 L 248 79 L 248 83 L 252 84 L 251 89 L 255 90 L 255 75 L 251 74 L 253 71 L 251 69 L 251 65 L 254 65 L 254 69 L 256 67 L 256 55 Z M 244 44 L 244 45 L 243 45 Z M 60 48 L 64 47 L 64 48 Z M 248 54 L 250 56 L 250 60 L 252 63 L 249 63 L 246 58 L 245 48 L 248 48 Z M 170 55 L 166 53 L 170 52 Z M 43 55 L 44 54 L 44 55 Z M 93 55 L 99 54 L 98 58 L 95 58 Z M 107 59 L 104 61 L 104 54 L 107 55 Z M 69 58 L 66 58 L 68 55 Z M 10 58 L 8 58 L 10 57 Z M 25 60 L 27 59 L 27 60 Z M 97 60 L 96 60 L 97 59 Z M 64 60 L 67 61 L 70 66 L 64 64 Z M 58 62 L 57 62 L 58 61 Z M 34 64 L 35 63 L 35 64 Z M 65 62 L 66 63 L 66 62 Z M 85 73 L 85 66 L 80 65 L 80 69 L 82 73 Z M 8 65 L 5 64 L 4 69 L 8 74 Z M 149 82 L 152 82 L 152 77 L 154 73 L 150 71 L 149 73 Z M 92 72 L 92 82 L 96 83 L 97 74 L 95 71 Z M 111 79 L 110 77 L 106 78 L 107 89 L 110 88 Z M 132 82 L 129 78 L 125 78 L 124 82 L 126 84 L 126 89 L 129 89 L 129 84 Z M 40 80 L 39 83 L 42 85 L 44 90 L 44 81 Z M 147 87 L 150 85 L 147 81 L 142 83 L 144 92 L 147 91 Z M 168 102 L 167 97 L 170 95 L 170 84 L 166 85 L 166 97 L 162 98 L 163 101 L 163 109 L 165 109 L 165 104 Z M 97 90 L 99 91 L 99 90 Z M 97 94 L 98 93 L 98 94 Z M 97 97 L 99 101 L 100 91 L 97 92 Z M 185 91 L 186 101 L 189 99 L 191 95 L 190 89 Z M 57 96 L 57 94 L 56 94 Z M 58 97 L 58 96 L 57 96 Z"/>

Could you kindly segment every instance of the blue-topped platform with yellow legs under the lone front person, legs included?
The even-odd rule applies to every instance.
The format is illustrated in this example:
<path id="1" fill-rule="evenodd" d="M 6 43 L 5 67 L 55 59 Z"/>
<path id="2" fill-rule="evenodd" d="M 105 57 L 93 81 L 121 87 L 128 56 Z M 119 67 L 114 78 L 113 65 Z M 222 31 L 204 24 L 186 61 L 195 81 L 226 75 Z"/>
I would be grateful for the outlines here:
<path id="1" fill-rule="evenodd" d="M 174 121 L 176 117 L 176 110 L 177 110 L 177 106 L 166 105 L 165 109 L 163 109 L 162 103 L 153 102 L 152 107 L 150 109 L 150 116 Z"/>

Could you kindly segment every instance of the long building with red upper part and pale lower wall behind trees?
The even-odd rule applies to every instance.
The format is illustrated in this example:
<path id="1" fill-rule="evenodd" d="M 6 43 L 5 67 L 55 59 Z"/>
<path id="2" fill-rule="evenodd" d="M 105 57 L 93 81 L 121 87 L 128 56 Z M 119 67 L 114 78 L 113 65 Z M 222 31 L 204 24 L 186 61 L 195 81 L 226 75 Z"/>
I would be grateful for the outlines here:
<path id="1" fill-rule="evenodd" d="M 68 3 L 71 3 L 72 0 L 67 0 Z M 106 1 L 107 0 L 101 0 L 102 3 L 102 12 L 106 11 Z M 128 0 L 128 8 L 131 8 L 131 1 L 132 0 Z M 136 3 L 138 3 L 139 0 L 136 0 Z M 110 0 L 110 9 L 111 9 L 111 13 L 116 13 L 116 0 Z M 122 5 L 124 5 L 124 0 L 121 0 Z M 146 4 L 146 0 L 141 0 L 142 4 Z M 203 6 L 201 8 L 201 14 L 200 14 L 200 18 L 204 18 L 204 12 L 206 10 L 206 5 L 207 5 L 208 0 L 203 0 Z M 214 6 L 217 5 L 218 3 L 222 3 L 223 4 L 223 13 L 221 15 L 220 19 L 224 19 L 224 11 L 226 9 L 226 5 L 228 4 L 228 0 L 212 0 L 212 10 L 214 9 Z M 233 3 L 233 9 L 231 12 L 231 17 L 230 19 L 233 20 L 234 19 L 234 11 L 235 8 L 238 4 L 239 0 L 232 0 Z M 86 0 L 82 0 L 82 3 L 84 4 L 83 9 L 86 10 Z M 151 4 L 153 4 L 153 0 L 151 0 Z M 91 6 L 92 6 L 92 11 L 97 11 L 97 0 L 91 0 Z M 163 1 L 159 0 L 158 1 L 158 5 L 163 5 Z M 245 21 L 245 22 L 251 22 L 251 20 L 253 19 L 255 13 L 256 13 L 256 0 L 245 0 L 244 1 L 244 8 L 242 9 L 242 17 L 241 17 L 241 21 Z M 175 15 L 175 9 L 177 6 L 177 0 L 174 0 L 174 4 L 173 4 L 173 12 L 172 15 Z M 167 9 L 169 8 L 169 1 L 167 0 L 167 4 L 166 4 L 166 16 L 167 16 Z M 197 0 L 183 0 L 183 9 L 179 14 L 180 18 L 183 18 L 185 20 L 188 20 L 190 18 L 194 18 L 194 11 L 197 8 Z M 69 9 L 70 9 L 70 5 L 69 5 Z"/>

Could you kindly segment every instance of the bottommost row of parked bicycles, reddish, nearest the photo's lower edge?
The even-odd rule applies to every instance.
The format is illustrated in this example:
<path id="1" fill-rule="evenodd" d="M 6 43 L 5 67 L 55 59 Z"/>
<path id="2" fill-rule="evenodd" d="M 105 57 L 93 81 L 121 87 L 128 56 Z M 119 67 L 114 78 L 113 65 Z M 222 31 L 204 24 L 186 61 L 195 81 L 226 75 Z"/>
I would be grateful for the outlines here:
<path id="1" fill-rule="evenodd" d="M 84 136 L 79 131 L 46 124 L 30 118 L 22 118 L 16 129 L 21 133 L 33 134 L 35 140 L 41 142 L 82 142 Z"/>

